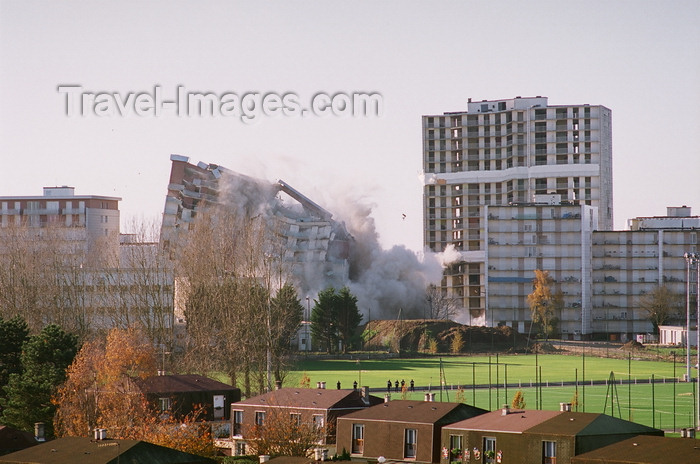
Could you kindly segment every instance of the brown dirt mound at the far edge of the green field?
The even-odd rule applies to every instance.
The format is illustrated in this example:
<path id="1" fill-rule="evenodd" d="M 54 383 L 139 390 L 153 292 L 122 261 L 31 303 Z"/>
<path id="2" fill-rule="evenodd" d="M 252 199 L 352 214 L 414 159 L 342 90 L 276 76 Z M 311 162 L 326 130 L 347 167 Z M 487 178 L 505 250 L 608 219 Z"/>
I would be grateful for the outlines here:
<path id="1" fill-rule="evenodd" d="M 391 352 L 468 353 L 522 351 L 527 337 L 511 327 L 475 327 L 446 320 L 371 321 L 365 349 Z"/>

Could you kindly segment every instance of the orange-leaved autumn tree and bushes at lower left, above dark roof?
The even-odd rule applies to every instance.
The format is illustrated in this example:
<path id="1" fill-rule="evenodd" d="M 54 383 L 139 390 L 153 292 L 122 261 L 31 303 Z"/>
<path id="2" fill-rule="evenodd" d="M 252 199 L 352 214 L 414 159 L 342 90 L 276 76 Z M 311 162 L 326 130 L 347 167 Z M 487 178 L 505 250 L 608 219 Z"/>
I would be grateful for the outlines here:
<path id="1" fill-rule="evenodd" d="M 176 420 L 156 411 L 138 389 L 134 380 L 153 375 L 156 366 L 155 350 L 140 330 L 112 329 L 106 340 L 86 342 L 53 399 L 56 434 L 89 436 L 104 428 L 110 438 L 213 455 L 211 433 L 198 421 L 203 410 Z"/>

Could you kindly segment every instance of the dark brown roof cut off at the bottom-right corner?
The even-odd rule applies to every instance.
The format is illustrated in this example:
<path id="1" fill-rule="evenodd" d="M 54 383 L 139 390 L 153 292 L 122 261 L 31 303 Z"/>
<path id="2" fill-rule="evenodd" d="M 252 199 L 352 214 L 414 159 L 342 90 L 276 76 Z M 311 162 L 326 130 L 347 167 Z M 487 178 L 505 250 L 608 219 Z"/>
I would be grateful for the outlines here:
<path id="1" fill-rule="evenodd" d="M 700 442 L 692 438 L 639 435 L 571 458 L 571 464 L 697 464 Z"/>

